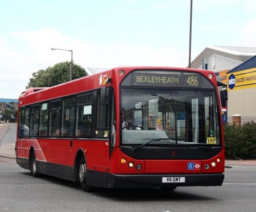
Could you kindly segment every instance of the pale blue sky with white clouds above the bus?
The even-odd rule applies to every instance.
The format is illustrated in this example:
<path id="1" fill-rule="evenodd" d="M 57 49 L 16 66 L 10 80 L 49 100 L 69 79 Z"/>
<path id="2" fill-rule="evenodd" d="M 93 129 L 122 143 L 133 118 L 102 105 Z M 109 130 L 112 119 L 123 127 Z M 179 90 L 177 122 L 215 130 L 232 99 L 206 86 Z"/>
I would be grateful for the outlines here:
<path id="1" fill-rule="evenodd" d="M 256 46 L 256 0 L 193 0 L 191 61 L 207 46 Z M 32 73 L 187 67 L 191 0 L 1 0 L 0 98 L 18 99 Z"/>

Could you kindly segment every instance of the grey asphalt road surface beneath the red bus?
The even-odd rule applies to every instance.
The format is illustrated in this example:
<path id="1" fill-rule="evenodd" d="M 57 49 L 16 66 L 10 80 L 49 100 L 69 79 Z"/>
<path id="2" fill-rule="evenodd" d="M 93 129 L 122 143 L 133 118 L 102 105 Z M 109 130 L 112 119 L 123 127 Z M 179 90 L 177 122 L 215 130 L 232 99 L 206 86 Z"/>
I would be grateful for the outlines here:
<path id="1" fill-rule="evenodd" d="M 222 186 L 99 189 L 55 177 L 34 178 L 15 159 L 0 163 L 0 211 L 255 211 L 256 166 L 227 168 Z"/>

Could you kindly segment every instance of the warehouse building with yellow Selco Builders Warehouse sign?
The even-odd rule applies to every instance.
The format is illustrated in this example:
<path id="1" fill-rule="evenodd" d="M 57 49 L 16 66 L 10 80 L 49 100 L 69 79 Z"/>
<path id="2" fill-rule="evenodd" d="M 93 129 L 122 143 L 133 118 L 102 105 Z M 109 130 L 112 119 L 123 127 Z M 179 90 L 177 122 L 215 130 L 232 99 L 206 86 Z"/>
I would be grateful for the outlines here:
<path id="1" fill-rule="evenodd" d="M 226 116 L 256 117 L 255 47 L 209 46 L 191 62 L 191 67 L 213 70 L 218 80 L 228 85 Z"/>

